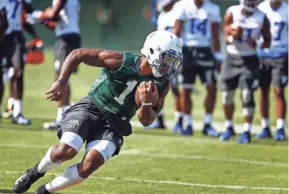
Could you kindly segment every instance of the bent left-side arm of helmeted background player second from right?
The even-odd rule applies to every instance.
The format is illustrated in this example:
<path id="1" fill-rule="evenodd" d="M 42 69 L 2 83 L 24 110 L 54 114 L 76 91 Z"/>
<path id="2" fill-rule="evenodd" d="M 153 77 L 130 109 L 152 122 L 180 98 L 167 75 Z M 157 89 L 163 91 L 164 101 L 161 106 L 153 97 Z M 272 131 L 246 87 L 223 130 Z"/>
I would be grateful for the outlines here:
<path id="1" fill-rule="evenodd" d="M 227 11 L 224 16 L 224 36 L 226 43 L 230 43 L 233 40 L 238 40 L 242 37 L 242 28 L 236 26 L 232 28 L 233 24 L 233 15 L 231 12 Z"/>

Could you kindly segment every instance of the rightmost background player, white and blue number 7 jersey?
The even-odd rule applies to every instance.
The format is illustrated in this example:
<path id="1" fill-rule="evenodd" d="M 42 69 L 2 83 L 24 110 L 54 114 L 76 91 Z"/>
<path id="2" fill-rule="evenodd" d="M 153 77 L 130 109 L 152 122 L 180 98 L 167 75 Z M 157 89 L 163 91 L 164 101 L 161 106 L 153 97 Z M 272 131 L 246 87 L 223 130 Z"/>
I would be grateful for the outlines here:
<path id="1" fill-rule="evenodd" d="M 270 50 L 260 52 L 260 112 L 263 127 L 258 139 L 270 138 L 269 91 L 274 86 L 277 113 L 275 140 L 285 139 L 286 99 L 284 87 L 288 83 L 288 4 L 282 0 L 267 0 L 259 5 L 270 21 L 272 44 Z M 265 55 L 264 55 L 265 54 Z"/>

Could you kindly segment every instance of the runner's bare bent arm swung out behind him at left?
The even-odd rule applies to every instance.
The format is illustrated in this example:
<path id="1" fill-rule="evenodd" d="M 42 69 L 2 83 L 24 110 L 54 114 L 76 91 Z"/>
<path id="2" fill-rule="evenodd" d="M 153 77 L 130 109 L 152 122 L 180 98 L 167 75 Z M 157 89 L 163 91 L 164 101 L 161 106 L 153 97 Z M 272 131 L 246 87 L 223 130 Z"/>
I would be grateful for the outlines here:
<path id="1" fill-rule="evenodd" d="M 52 85 L 51 90 L 46 93 L 46 98 L 51 101 L 59 101 L 61 99 L 66 82 L 80 63 L 93 67 L 117 69 L 122 62 L 123 54 L 117 51 L 88 48 L 75 49 L 66 57 L 59 79 Z"/>

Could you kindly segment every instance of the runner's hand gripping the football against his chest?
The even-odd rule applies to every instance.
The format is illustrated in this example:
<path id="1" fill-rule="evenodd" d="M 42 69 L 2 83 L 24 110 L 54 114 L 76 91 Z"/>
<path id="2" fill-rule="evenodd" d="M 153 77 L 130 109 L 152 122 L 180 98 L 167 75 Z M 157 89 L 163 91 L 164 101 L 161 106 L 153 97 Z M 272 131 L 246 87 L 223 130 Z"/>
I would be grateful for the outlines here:
<path id="1" fill-rule="evenodd" d="M 139 90 L 139 99 L 142 103 L 152 103 L 157 95 L 156 85 L 152 81 L 142 82 L 137 89 Z"/>

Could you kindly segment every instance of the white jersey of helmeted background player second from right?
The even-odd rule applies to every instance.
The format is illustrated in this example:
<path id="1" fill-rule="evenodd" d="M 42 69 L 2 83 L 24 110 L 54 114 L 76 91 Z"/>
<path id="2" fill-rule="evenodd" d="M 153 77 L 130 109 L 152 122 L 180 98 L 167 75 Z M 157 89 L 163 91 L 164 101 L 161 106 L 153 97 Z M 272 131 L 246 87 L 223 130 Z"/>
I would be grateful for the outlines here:
<path id="1" fill-rule="evenodd" d="M 234 40 L 227 45 L 227 52 L 238 56 L 256 55 L 256 49 L 248 44 L 248 39 L 253 38 L 258 40 L 261 36 L 265 14 L 259 9 L 255 9 L 250 16 L 242 14 L 242 6 L 235 5 L 227 9 L 233 15 L 233 24 L 241 26 L 243 35 L 241 40 Z"/>

